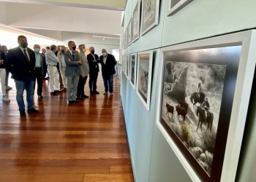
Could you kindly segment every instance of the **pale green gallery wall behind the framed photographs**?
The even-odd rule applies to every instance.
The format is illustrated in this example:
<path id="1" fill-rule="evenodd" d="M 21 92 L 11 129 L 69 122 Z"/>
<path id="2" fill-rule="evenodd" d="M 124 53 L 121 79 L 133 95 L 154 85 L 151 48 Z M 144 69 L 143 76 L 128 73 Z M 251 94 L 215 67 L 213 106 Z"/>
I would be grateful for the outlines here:
<path id="1" fill-rule="evenodd" d="M 129 149 L 135 180 L 140 181 L 192 181 L 181 165 L 173 149 L 165 140 L 156 124 L 157 81 L 159 73 L 160 48 L 187 41 L 205 39 L 225 33 L 256 28 L 254 16 L 256 1 L 191 1 L 174 15 L 167 17 L 169 0 L 159 4 L 159 24 L 140 39 L 124 49 L 123 54 L 151 50 L 154 52 L 151 104 L 149 111 L 143 106 L 136 90 L 127 76 L 122 76 L 121 99 L 127 124 Z M 124 29 L 129 23 L 137 1 L 128 0 L 124 17 Z M 249 106 L 254 103 L 251 102 Z M 252 125 L 255 116 L 247 118 L 246 126 Z M 242 144 L 242 157 L 238 164 L 237 179 L 253 181 L 256 146 L 252 143 L 255 127 L 246 132 L 246 141 Z M 246 144 L 244 144 L 246 143 Z M 242 162 L 241 162 L 242 161 Z M 243 173 L 241 173 L 243 171 Z"/>

